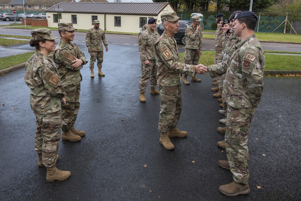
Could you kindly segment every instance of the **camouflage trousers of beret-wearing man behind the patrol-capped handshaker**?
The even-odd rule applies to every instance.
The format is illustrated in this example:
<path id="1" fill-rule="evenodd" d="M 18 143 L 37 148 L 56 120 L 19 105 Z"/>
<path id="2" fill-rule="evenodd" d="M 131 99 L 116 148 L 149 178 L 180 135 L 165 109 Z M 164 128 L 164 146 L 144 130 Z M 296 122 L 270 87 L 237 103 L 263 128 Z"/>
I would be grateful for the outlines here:
<path id="1" fill-rule="evenodd" d="M 145 93 L 146 86 L 149 79 L 151 79 L 150 84 L 151 88 L 156 88 L 157 85 L 157 65 L 156 60 L 149 60 L 150 65 L 147 66 L 144 64 L 144 61 L 141 62 L 142 75 L 139 81 L 139 92 Z"/>

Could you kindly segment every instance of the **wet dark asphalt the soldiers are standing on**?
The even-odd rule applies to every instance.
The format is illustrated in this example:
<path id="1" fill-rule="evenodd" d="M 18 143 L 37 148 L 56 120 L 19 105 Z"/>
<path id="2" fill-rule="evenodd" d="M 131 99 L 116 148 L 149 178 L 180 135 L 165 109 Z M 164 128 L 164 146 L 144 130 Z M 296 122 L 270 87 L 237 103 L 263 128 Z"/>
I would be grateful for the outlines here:
<path id="1" fill-rule="evenodd" d="M 89 59 L 86 47 L 80 48 Z M 81 72 L 75 126 L 87 134 L 79 142 L 60 142 L 57 167 L 71 176 L 50 183 L 46 169 L 37 165 L 35 116 L 24 69 L 0 77 L 0 103 L 5 103 L 0 105 L 0 200 L 301 199 L 300 77 L 265 76 L 248 143 L 251 191 L 228 197 L 218 190 L 232 176 L 217 163 L 226 159 L 216 146 L 223 140 L 216 131 L 223 116 L 208 74 L 197 76 L 201 83 L 182 86 L 178 128 L 188 131 L 188 137 L 172 138 L 175 149 L 169 151 L 159 144 L 159 95 L 149 94 L 148 85 L 147 102 L 139 101 L 138 46 L 109 45 L 104 77 L 91 79 L 88 64 Z"/>

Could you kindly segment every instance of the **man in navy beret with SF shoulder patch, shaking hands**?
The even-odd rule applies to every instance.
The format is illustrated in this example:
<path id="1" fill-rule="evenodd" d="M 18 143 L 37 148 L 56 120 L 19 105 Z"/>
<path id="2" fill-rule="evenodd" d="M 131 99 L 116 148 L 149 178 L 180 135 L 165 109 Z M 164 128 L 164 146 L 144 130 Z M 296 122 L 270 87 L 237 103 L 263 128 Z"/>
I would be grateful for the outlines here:
<path id="1" fill-rule="evenodd" d="M 220 160 L 219 165 L 231 170 L 234 181 L 220 186 L 219 190 L 228 196 L 250 192 L 247 141 L 251 119 L 262 97 L 265 68 L 265 55 L 254 34 L 256 15 L 244 11 L 237 13 L 234 19 L 235 35 L 241 42 L 235 45 L 229 66 L 225 62 L 203 66 L 212 77 L 226 72 L 223 98 L 227 103 L 225 144 L 228 161 Z"/>

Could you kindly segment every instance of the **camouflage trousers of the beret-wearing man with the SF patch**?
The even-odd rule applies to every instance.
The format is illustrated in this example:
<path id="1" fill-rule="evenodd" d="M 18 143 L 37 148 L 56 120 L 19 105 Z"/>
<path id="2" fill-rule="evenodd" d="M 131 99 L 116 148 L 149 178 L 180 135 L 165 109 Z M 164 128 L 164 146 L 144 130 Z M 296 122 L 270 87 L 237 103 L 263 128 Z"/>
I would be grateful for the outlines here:
<path id="1" fill-rule="evenodd" d="M 249 150 L 247 146 L 251 119 L 256 107 L 252 109 L 237 109 L 227 106 L 227 130 L 225 144 L 233 180 L 247 184 L 249 180 Z"/>

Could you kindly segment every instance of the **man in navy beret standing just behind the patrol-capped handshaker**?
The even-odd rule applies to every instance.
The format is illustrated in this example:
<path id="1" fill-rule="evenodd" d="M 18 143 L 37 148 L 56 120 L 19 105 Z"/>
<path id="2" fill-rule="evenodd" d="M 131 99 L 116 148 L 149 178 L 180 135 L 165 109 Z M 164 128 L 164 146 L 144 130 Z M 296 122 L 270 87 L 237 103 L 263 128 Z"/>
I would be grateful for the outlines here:
<path id="1" fill-rule="evenodd" d="M 150 18 L 148 20 L 148 28 L 143 31 L 138 39 L 139 55 L 141 60 L 142 75 L 139 81 L 140 101 L 145 102 L 144 93 L 149 79 L 151 85 L 151 94 L 159 94 L 156 89 L 157 85 L 157 66 L 155 54 L 155 42 L 160 37 L 155 31 L 157 19 Z"/>

